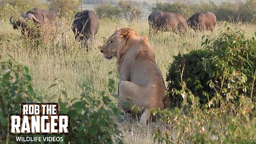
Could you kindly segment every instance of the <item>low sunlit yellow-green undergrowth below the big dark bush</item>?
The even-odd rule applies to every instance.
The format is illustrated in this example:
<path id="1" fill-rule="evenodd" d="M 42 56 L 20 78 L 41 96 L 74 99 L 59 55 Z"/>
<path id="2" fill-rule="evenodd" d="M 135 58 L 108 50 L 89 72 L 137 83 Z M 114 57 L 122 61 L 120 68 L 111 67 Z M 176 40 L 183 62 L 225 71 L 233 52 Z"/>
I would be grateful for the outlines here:
<path id="1" fill-rule="evenodd" d="M 187 93 L 184 97 L 192 95 Z M 162 115 L 170 130 L 156 129 L 154 142 L 158 143 L 254 143 L 256 126 L 255 102 L 241 97 L 239 106 L 201 109 L 196 102 L 182 108 L 153 111 Z"/>

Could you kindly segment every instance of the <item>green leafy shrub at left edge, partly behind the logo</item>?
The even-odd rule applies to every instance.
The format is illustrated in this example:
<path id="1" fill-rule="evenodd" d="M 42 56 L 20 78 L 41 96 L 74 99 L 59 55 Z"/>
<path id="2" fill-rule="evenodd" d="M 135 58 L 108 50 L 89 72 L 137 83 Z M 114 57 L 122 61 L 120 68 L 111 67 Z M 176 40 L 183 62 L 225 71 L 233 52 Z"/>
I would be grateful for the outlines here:
<path id="1" fill-rule="evenodd" d="M 8 143 L 13 136 L 9 135 L 9 115 L 19 114 L 21 103 L 42 102 L 42 98 L 33 89 L 28 67 L 13 60 L 0 65 L 0 143 Z"/>

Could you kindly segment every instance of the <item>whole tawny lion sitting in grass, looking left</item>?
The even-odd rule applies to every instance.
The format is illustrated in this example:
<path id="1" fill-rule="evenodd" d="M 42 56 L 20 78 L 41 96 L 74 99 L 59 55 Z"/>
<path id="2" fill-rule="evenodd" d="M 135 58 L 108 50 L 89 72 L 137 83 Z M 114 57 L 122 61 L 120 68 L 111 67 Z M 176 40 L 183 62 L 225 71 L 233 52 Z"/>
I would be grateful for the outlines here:
<path id="1" fill-rule="evenodd" d="M 135 114 L 132 106 L 143 112 L 140 124 L 146 125 L 151 108 L 164 109 L 166 87 L 160 69 L 156 65 L 155 52 L 146 37 L 140 37 L 130 28 L 117 29 L 100 47 L 106 60 L 117 58 L 119 74 L 118 103 L 131 105 L 125 110 Z"/>

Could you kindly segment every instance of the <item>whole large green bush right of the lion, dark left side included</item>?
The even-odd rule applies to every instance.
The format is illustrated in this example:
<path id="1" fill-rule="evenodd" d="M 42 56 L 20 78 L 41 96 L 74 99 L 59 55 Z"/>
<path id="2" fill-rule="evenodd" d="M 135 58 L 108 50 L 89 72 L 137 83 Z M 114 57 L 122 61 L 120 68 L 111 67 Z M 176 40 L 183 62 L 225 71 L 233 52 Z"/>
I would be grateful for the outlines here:
<path id="1" fill-rule="evenodd" d="M 225 101 L 235 102 L 242 96 L 254 99 L 254 37 L 246 39 L 242 30 L 231 30 L 226 26 L 217 39 L 207 37 L 202 45 L 202 50 L 174 57 L 166 77 L 171 106 L 180 106 L 183 96 L 179 90 L 183 82 L 201 104 L 208 103 L 206 107 Z"/>

